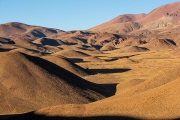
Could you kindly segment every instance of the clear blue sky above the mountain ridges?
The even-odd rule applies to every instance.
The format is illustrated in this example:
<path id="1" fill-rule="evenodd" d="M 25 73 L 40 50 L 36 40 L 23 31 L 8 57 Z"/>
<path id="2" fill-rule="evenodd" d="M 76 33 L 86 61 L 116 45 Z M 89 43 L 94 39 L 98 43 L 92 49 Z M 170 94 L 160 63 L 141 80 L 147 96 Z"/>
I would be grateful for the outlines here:
<path id="1" fill-rule="evenodd" d="M 0 0 L 0 24 L 86 30 L 122 14 L 149 13 L 178 0 Z"/>

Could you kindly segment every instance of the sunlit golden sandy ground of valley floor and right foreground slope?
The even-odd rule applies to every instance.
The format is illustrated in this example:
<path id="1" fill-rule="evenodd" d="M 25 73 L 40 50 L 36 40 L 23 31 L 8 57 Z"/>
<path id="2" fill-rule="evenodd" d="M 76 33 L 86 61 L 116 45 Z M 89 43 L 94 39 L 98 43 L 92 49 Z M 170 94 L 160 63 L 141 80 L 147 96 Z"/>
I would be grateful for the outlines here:
<path id="1" fill-rule="evenodd" d="M 178 118 L 180 55 L 173 55 L 172 52 L 175 51 L 91 54 L 103 61 L 76 63 L 82 68 L 88 68 L 87 70 L 92 73 L 82 78 L 101 85 L 114 85 L 114 95 L 90 104 L 56 103 L 55 106 L 35 111 L 33 115 L 59 116 L 59 118 L 65 116 Z M 46 58 L 49 59 L 47 56 Z"/>

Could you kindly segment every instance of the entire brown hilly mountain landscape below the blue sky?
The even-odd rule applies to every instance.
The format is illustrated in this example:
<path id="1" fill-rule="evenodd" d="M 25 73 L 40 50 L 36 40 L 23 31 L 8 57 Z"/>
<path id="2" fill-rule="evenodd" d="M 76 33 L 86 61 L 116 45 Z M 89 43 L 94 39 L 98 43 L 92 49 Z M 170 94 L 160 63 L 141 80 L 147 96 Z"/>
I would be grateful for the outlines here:
<path id="1" fill-rule="evenodd" d="M 87 30 L 0 24 L 0 119 L 179 119 L 180 2 Z"/>

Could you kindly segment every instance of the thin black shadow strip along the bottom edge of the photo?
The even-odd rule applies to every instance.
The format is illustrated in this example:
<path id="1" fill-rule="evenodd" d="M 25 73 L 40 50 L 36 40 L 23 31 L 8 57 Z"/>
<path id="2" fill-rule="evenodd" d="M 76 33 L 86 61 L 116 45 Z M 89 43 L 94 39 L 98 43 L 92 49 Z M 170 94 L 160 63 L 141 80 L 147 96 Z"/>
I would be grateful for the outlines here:
<path id="1" fill-rule="evenodd" d="M 93 117 L 64 117 L 64 116 L 45 116 L 37 115 L 34 112 L 0 116 L 1 120 L 140 120 L 130 116 L 93 116 Z"/>

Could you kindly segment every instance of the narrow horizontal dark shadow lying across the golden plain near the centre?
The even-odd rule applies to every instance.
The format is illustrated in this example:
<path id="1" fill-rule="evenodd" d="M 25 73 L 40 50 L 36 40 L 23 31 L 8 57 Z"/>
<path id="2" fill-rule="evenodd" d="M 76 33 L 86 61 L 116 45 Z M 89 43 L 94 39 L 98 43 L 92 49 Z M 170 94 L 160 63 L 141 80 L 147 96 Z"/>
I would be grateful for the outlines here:
<path id="1" fill-rule="evenodd" d="M 114 69 L 89 69 L 92 74 L 106 74 L 106 73 L 123 73 L 123 72 L 128 72 L 131 69 L 129 68 L 114 68 Z"/>

